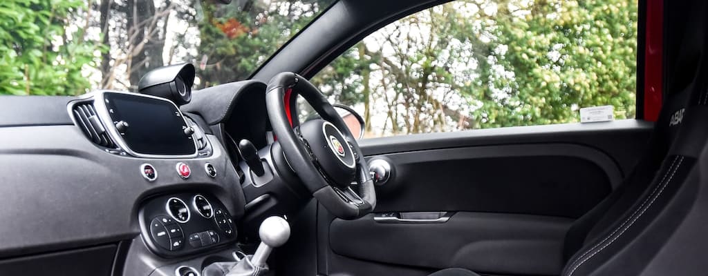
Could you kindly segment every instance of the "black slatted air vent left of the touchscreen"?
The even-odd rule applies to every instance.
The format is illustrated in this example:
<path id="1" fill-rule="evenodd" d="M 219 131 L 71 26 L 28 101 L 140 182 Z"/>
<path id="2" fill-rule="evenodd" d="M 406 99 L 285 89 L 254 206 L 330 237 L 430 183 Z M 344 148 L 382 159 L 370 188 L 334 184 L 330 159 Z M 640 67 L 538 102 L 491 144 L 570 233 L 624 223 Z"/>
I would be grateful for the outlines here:
<path id="1" fill-rule="evenodd" d="M 98 119 L 93 102 L 80 102 L 74 105 L 72 112 L 74 112 L 76 124 L 93 143 L 105 148 L 116 148 L 113 140 L 110 140 L 110 136 L 105 132 L 101 120 Z"/>

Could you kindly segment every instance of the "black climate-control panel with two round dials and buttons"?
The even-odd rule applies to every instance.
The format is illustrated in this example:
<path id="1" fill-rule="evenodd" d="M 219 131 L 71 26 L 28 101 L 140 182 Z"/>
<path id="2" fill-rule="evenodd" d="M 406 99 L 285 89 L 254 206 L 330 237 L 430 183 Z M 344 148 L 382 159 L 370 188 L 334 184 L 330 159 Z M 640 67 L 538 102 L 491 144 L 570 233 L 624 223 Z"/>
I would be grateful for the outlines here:
<path id="1" fill-rule="evenodd" d="M 200 215 L 188 215 L 194 212 Z M 236 242 L 234 219 L 217 198 L 207 193 L 151 198 L 143 204 L 139 216 L 146 244 L 160 256 L 185 256 Z"/>

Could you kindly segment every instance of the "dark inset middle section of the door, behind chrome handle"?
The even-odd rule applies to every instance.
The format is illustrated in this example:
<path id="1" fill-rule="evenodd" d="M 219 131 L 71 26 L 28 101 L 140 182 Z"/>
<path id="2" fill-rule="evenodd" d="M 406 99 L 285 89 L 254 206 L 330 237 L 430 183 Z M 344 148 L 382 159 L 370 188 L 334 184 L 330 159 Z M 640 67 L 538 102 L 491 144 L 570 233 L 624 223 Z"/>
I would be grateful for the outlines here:
<path id="1" fill-rule="evenodd" d="M 377 212 L 579 217 L 622 181 L 610 157 L 573 144 L 419 150 L 383 158 L 396 174 L 377 187 Z"/>

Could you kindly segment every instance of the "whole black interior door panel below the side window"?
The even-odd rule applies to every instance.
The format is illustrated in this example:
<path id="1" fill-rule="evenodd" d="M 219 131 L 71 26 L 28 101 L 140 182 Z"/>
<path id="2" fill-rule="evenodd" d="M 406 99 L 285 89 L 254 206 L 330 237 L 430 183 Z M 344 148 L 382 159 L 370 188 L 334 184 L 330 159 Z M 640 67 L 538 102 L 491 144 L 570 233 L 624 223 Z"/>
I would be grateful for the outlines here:
<path id="1" fill-rule="evenodd" d="M 395 174 L 377 186 L 375 214 L 345 221 L 317 208 L 318 270 L 557 275 L 567 229 L 620 184 L 652 126 L 627 120 L 362 140 L 367 158 L 384 158 Z M 375 220 L 400 212 L 451 216 Z"/>

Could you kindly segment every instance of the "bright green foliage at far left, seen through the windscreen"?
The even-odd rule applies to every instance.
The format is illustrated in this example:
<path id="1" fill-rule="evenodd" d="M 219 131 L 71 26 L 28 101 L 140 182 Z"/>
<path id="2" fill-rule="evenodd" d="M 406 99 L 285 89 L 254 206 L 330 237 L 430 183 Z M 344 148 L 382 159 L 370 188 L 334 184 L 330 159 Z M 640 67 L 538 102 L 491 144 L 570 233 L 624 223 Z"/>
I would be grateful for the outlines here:
<path id="1" fill-rule="evenodd" d="M 84 66 L 96 66 L 84 32 L 65 27 L 81 0 L 0 1 L 0 94 L 78 95 L 90 88 Z"/>

